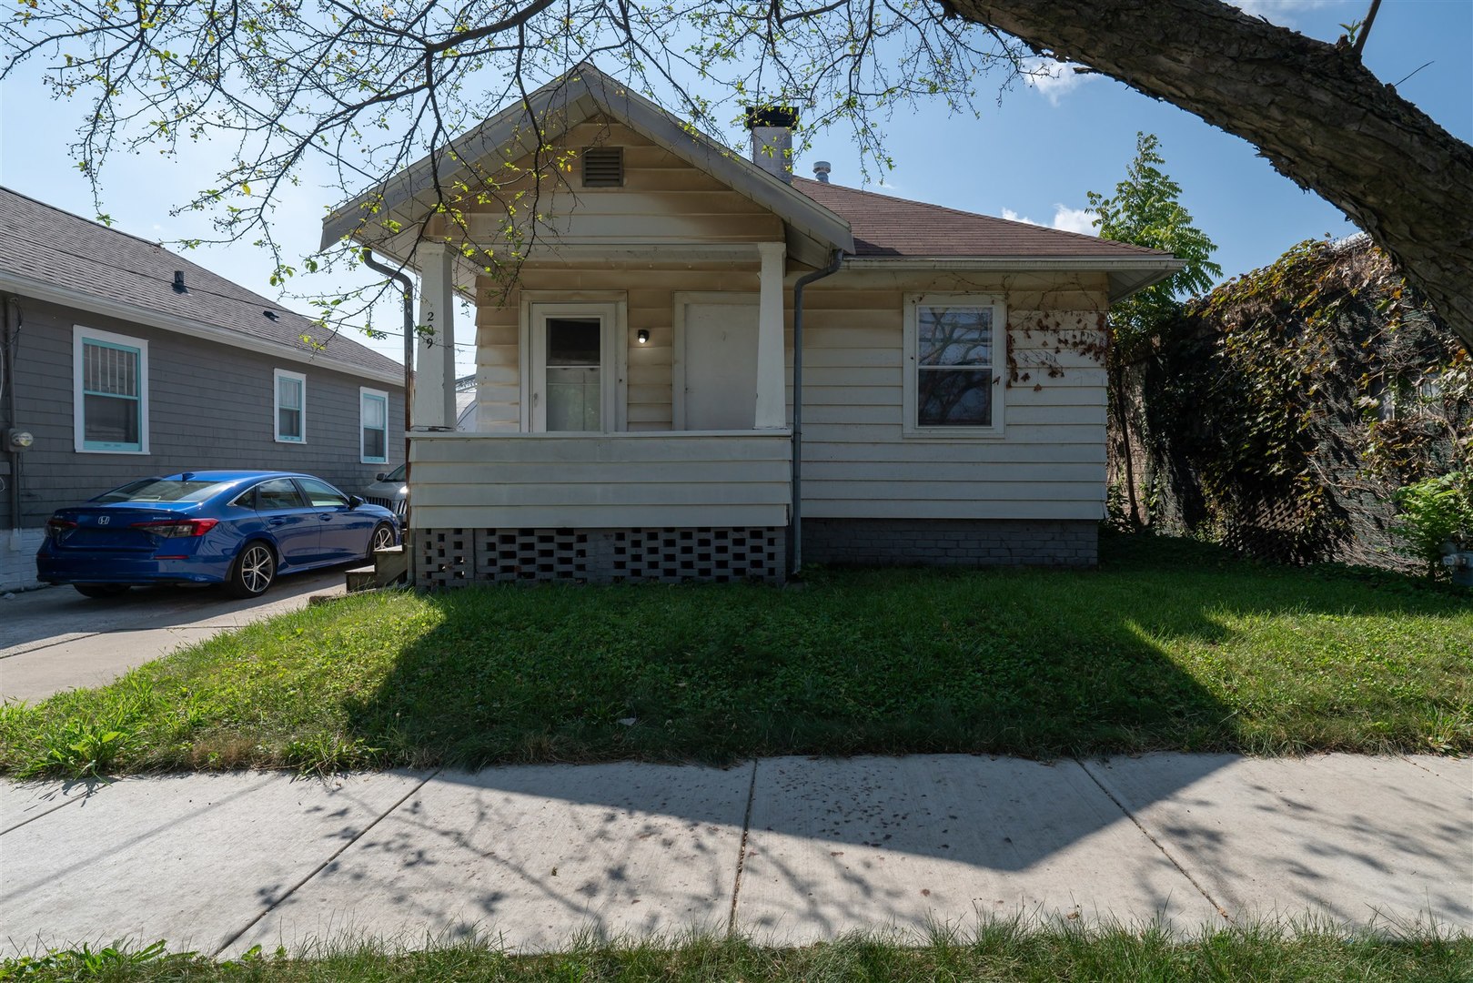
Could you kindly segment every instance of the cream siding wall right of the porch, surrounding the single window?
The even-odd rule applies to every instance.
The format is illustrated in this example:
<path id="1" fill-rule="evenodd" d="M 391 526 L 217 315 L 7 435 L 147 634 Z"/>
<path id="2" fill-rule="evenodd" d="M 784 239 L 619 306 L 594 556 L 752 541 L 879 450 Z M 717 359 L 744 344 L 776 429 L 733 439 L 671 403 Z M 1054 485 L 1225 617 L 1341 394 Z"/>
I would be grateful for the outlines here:
<path id="1" fill-rule="evenodd" d="M 1018 379 L 1003 396 L 1002 439 L 901 435 L 901 305 L 927 289 L 1006 298 Z M 803 514 L 1102 517 L 1105 304 L 1103 277 L 841 274 L 816 283 L 804 302 Z M 791 332 L 788 343 L 791 364 Z"/>

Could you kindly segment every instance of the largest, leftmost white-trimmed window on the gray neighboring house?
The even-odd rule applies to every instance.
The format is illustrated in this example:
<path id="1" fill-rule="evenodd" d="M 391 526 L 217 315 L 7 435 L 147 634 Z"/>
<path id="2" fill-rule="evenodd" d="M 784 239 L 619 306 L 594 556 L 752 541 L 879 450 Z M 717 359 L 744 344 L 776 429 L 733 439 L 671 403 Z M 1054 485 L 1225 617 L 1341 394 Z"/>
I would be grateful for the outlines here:
<path id="1" fill-rule="evenodd" d="M 74 438 L 80 452 L 149 452 L 149 343 L 72 327 Z"/>

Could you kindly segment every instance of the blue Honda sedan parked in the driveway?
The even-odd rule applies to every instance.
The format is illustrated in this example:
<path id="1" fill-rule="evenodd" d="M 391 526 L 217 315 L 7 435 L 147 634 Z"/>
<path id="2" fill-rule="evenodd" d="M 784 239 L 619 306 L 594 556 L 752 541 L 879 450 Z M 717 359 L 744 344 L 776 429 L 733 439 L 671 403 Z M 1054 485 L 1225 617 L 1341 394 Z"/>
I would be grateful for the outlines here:
<path id="1" fill-rule="evenodd" d="M 144 477 L 46 523 L 37 576 L 109 597 L 144 584 L 264 592 L 278 573 L 373 556 L 398 542 L 393 513 L 320 477 L 184 472 Z"/>

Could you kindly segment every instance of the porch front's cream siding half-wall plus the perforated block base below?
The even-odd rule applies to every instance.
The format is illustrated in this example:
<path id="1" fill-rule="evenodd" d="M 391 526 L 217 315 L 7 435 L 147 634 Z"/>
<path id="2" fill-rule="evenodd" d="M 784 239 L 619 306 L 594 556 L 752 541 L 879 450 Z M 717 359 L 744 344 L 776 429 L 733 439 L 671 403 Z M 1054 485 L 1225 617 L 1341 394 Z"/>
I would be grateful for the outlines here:
<path id="1" fill-rule="evenodd" d="M 781 581 L 791 433 L 417 433 L 415 582 Z"/>

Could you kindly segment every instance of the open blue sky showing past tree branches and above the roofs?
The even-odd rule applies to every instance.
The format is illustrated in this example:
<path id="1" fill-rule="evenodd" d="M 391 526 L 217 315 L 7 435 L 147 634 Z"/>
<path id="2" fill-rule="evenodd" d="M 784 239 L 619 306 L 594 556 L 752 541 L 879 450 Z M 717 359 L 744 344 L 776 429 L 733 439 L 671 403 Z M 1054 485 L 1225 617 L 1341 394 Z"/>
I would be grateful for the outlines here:
<path id="1" fill-rule="evenodd" d="M 1364 18 L 1368 0 L 1254 0 L 1240 6 L 1311 37 L 1335 40 L 1343 32 L 1342 22 Z M 1404 97 L 1449 133 L 1473 143 L 1473 0 L 1386 0 L 1364 59 L 1382 81 L 1396 84 Z M 90 187 L 68 155 L 85 108 L 50 100 L 38 83 L 44 65 L 44 59 L 35 59 L 0 87 L 0 183 L 91 217 L 96 209 Z M 1000 105 L 985 96 L 978 105 L 980 119 L 947 116 L 938 103 L 897 115 L 887 147 L 894 169 L 881 186 L 869 189 L 1087 231 L 1078 211 L 1086 193 L 1112 190 L 1134 156 L 1136 133 L 1147 131 L 1161 139 L 1167 171 L 1181 186 L 1196 224 L 1217 242 L 1215 259 L 1224 276 L 1268 264 L 1302 239 L 1355 231 L 1337 209 L 1274 172 L 1243 140 L 1108 78 L 1065 72 L 1052 84 L 1015 88 Z M 736 131 L 716 136 L 741 141 Z M 202 217 L 171 217 L 169 209 L 206 186 L 225 155 L 227 146 L 190 146 L 172 159 L 147 150 L 134 158 L 116 156 L 103 172 L 103 211 L 115 228 L 165 245 L 208 236 Z M 860 186 L 857 152 L 846 134 L 818 134 L 797 174 L 810 175 L 818 159 L 832 162 L 835 183 Z M 314 184 L 309 171 L 277 211 L 278 239 L 298 256 L 311 253 L 323 206 L 343 197 L 340 189 Z M 275 295 L 268 284 L 273 264 L 249 243 L 187 255 L 250 289 Z M 293 283 L 305 293 L 340 286 L 337 279 L 299 277 Z M 398 309 L 384 308 L 379 323 L 396 326 Z M 467 340 L 465 333 L 458 340 Z M 367 343 L 395 358 L 402 345 L 396 337 Z M 473 352 L 464 346 L 461 371 L 471 370 Z"/>

